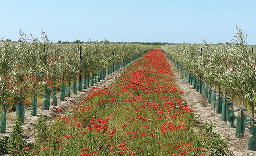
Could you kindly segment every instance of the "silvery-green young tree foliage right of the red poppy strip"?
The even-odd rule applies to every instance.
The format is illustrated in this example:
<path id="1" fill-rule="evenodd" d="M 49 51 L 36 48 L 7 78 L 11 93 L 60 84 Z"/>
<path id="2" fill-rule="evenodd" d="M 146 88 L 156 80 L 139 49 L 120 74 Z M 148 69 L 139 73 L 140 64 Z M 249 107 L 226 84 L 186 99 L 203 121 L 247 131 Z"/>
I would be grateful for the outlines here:
<path id="1" fill-rule="evenodd" d="M 256 56 L 253 46 L 246 43 L 244 30 L 237 27 L 237 34 L 229 44 L 180 44 L 162 46 L 180 65 L 216 86 L 231 100 L 239 99 L 242 108 L 247 105 L 254 117 L 256 106 Z"/>

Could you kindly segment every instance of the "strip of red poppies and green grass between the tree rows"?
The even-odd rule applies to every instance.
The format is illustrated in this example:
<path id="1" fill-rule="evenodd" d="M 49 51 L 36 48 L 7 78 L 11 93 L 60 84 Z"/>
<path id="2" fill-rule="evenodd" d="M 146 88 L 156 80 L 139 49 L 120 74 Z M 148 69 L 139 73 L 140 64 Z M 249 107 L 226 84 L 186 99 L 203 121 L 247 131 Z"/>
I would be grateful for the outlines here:
<path id="1" fill-rule="evenodd" d="M 181 99 L 171 66 L 155 49 L 116 81 L 73 101 L 72 115 L 56 110 L 40 118 L 37 141 L 19 152 L 32 155 L 212 155 L 227 147 L 211 125 L 194 127 L 194 110 Z M 215 139 L 217 136 L 218 139 Z M 218 149 L 217 149 L 217 148 Z"/>

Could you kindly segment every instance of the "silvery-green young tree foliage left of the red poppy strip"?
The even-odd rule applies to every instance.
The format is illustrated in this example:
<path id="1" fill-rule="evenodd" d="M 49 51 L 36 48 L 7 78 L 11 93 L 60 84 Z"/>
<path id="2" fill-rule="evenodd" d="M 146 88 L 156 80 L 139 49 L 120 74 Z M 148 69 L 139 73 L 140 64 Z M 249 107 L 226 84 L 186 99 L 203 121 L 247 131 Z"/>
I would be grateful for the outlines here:
<path id="1" fill-rule="evenodd" d="M 22 30 L 19 31 L 20 42 L 0 40 L 1 104 L 10 104 L 12 99 L 29 95 L 33 99 L 49 87 L 69 85 L 77 77 L 82 79 L 105 70 L 151 48 L 99 42 L 58 44 L 50 41 L 43 30 L 41 40 L 32 34 L 27 36 Z"/>

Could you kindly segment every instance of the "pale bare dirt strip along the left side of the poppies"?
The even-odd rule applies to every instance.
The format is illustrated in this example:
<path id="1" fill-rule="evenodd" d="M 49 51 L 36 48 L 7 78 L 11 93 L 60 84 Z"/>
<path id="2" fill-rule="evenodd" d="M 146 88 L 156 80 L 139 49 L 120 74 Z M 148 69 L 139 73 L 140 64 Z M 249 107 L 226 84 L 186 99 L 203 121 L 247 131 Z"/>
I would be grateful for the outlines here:
<path id="1" fill-rule="evenodd" d="M 109 84 L 113 83 L 113 81 L 115 80 L 115 77 L 119 76 L 120 73 L 123 70 L 125 70 L 125 68 L 127 68 L 127 66 L 129 66 L 130 64 L 126 65 L 123 68 L 120 68 L 119 70 L 116 70 L 112 74 L 106 76 L 105 79 L 101 80 L 100 82 L 97 82 L 93 86 L 90 86 L 87 89 L 83 89 L 82 92 L 77 91 L 76 95 L 73 94 L 72 89 L 71 89 L 70 97 L 65 97 L 65 101 L 60 101 L 59 100 L 60 92 L 57 93 L 56 97 L 57 97 L 58 105 L 54 106 L 53 101 L 51 99 L 49 110 L 42 110 L 41 105 L 37 107 L 37 116 L 32 116 L 31 111 L 30 111 L 31 107 L 26 107 L 25 108 L 25 121 L 24 121 L 24 125 L 22 125 L 23 136 L 25 138 L 25 141 L 28 142 L 28 143 L 35 141 L 35 132 L 34 132 L 33 127 L 35 125 L 35 121 L 39 118 L 39 116 L 46 116 L 50 120 L 54 119 L 53 118 L 53 112 L 56 108 L 61 109 L 61 113 L 62 113 L 61 116 L 63 116 L 63 115 L 68 116 L 69 114 L 72 113 L 72 108 L 70 106 L 73 105 L 73 103 L 72 103 L 73 100 L 75 100 L 76 102 L 79 102 L 79 101 L 82 100 L 83 96 L 86 96 L 88 93 L 90 93 L 89 91 L 92 90 L 92 88 L 101 88 L 101 87 L 108 86 Z M 37 105 L 38 104 L 39 103 L 37 103 Z M 0 133 L 0 137 L 2 135 L 3 136 L 8 136 L 11 133 L 12 129 L 10 128 L 10 126 L 14 125 L 13 121 L 15 119 L 16 119 L 16 112 L 7 113 L 6 133 Z M 49 121 L 49 122 L 51 122 L 51 121 Z"/>

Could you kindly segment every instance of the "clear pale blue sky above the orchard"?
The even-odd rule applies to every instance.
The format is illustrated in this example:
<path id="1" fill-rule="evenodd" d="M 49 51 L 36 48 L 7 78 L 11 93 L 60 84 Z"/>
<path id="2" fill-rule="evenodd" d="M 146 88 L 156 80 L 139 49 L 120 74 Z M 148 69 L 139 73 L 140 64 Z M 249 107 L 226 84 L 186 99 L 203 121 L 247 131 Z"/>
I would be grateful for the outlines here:
<path id="1" fill-rule="evenodd" d="M 18 40 L 18 29 L 50 40 L 201 43 L 229 42 L 235 25 L 256 44 L 256 1 L 4 1 L 0 37 Z"/>

